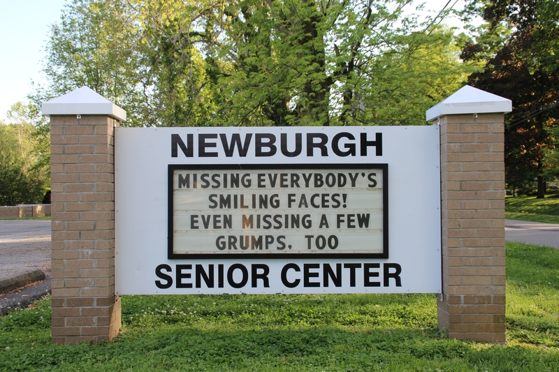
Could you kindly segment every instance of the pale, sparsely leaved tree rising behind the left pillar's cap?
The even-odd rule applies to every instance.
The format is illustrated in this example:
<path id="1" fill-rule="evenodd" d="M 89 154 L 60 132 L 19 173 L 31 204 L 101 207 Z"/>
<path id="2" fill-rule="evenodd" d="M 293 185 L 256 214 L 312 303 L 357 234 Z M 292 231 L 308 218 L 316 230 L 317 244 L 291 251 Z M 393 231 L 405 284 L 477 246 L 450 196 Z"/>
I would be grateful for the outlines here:
<path id="1" fill-rule="evenodd" d="M 45 46 L 48 87 L 31 98 L 41 103 L 87 85 L 126 110 L 131 125 L 149 118 L 149 71 L 141 52 L 145 41 L 127 1 L 73 0 L 53 24 Z M 153 120 L 141 125 L 154 125 Z"/>

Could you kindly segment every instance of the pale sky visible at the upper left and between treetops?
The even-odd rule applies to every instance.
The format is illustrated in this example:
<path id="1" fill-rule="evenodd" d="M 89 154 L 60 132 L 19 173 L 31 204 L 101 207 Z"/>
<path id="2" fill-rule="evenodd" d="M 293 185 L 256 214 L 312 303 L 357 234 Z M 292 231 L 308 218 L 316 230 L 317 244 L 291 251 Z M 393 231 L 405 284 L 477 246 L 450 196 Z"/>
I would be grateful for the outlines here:
<path id="1" fill-rule="evenodd" d="M 11 105 L 27 101 L 31 81 L 45 83 L 41 61 L 50 26 L 59 22 L 61 10 L 69 1 L 0 0 L 0 121 L 6 121 Z M 427 0 L 426 8 L 438 12 L 447 2 Z M 456 1 L 454 8 L 463 7 L 463 3 Z"/>

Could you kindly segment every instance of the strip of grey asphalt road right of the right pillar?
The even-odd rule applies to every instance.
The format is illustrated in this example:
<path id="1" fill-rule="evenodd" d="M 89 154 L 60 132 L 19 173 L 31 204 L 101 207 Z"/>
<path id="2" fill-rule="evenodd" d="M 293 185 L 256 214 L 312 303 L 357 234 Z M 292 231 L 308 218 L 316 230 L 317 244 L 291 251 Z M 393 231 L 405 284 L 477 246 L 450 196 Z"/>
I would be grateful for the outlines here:
<path id="1" fill-rule="evenodd" d="M 507 241 L 559 249 L 559 224 L 504 220 L 504 237 Z"/>

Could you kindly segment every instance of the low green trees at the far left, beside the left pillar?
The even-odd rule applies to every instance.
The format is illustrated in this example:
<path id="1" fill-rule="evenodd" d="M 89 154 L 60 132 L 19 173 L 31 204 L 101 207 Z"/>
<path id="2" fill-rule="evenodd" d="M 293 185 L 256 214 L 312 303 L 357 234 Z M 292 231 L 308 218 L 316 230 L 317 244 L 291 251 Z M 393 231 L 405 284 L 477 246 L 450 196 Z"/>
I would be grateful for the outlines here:
<path id="1" fill-rule="evenodd" d="M 0 123 L 0 205 L 41 202 L 50 184 L 48 132 L 33 117 L 34 105 L 19 102 Z"/>

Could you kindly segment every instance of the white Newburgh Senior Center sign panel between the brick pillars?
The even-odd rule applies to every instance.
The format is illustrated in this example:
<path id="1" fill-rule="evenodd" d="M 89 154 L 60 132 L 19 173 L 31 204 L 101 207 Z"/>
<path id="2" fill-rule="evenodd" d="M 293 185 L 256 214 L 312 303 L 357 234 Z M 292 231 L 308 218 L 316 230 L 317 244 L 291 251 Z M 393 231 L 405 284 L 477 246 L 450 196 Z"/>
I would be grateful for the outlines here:
<path id="1" fill-rule="evenodd" d="M 117 128 L 117 295 L 440 292 L 438 126 Z"/>

